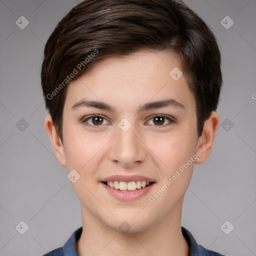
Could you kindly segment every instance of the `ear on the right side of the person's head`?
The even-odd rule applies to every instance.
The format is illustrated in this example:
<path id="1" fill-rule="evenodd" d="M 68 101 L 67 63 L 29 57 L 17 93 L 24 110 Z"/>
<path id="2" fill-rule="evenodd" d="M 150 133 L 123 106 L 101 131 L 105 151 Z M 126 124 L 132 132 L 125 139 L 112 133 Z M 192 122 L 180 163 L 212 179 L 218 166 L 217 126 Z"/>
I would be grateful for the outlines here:
<path id="1" fill-rule="evenodd" d="M 195 163 L 204 162 L 213 146 L 213 141 L 219 124 L 219 117 L 216 111 L 211 111 L 210 117 L 204 121 L 201 136 L 198 138 L 197 151 L 200 151 Z"/>

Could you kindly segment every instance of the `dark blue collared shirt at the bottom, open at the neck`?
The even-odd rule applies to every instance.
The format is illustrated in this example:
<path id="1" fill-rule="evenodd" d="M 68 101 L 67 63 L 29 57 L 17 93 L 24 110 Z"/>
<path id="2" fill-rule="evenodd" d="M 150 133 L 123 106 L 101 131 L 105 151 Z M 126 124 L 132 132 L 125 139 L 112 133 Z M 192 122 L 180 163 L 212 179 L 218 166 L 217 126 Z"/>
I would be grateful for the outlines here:
<path id="1" fill-rule="evenodd" d="M 201 246 L 200 244 L 197 244 L 192 234 L 183 226 L 181 226 L 181 231 L 189 246 L 189 256 L 224 256 L 218 252 L 208 250 Z M 63 245 L 63 247 L 51 250 L 43 254 L 42 256 L 77 256 L 75 250 L 75 242 L 80 238 L 81 232 L 82 226 L 77 228 L 71 234 L 71 236 Z"/>

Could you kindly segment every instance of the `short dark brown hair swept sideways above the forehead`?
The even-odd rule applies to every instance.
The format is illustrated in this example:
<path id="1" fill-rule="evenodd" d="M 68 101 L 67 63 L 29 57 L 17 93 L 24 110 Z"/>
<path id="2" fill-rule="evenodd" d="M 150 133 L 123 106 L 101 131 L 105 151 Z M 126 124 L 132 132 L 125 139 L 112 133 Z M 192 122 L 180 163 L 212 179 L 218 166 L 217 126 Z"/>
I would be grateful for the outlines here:
<path id="1" fill-rule="evenodd" d="M 61 140 L 69 81 L 103 58 L 141 49 L 170 50 L 179 57 L 195 98 L 201 135 L 204 120 L 217 108 L 222 85 L 220 51 L 205 22 L 180 0 L 83 0 L 58 22 L 41 65 L 45 105 Z M 70 78 L 74 69 L 77 73 Z"/>

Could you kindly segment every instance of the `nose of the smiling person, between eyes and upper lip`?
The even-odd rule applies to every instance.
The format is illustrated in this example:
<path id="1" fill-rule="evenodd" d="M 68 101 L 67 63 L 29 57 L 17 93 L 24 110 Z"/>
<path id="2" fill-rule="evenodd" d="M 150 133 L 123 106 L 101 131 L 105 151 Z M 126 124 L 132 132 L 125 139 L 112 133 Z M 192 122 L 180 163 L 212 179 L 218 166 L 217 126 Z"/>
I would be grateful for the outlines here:
<path id="1" fill-rule="evenodd" d="M 116 126 L 117 134 L 110 141 L 109 158 L 125 168 L 133 168 L 144 161 L 146 146 L 135 125 L 124 131 Z"/>

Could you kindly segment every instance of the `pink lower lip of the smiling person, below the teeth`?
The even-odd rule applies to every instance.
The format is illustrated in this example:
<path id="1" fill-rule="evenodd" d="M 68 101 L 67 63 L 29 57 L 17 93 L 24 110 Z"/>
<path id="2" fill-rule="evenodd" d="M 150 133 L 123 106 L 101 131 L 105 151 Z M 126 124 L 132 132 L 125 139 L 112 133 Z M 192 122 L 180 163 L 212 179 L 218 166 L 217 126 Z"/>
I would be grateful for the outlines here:
<path id="1" fill-rule="evenodd" d="M 116 199 L 130 201 L 138 199 L 139 197 L 145 195 L 149 192 L 149 190 L 152 188 L 155 182 L 151 183 L 148 186 L 145 186 L 143 188 L 131 190 L 131 191 L 124 191 L 124 190 L 118 190 L 115 188 L 112 188 L 105 183 L 101 182 L 101 184 L 104 186 L 104 188 Z"/>

